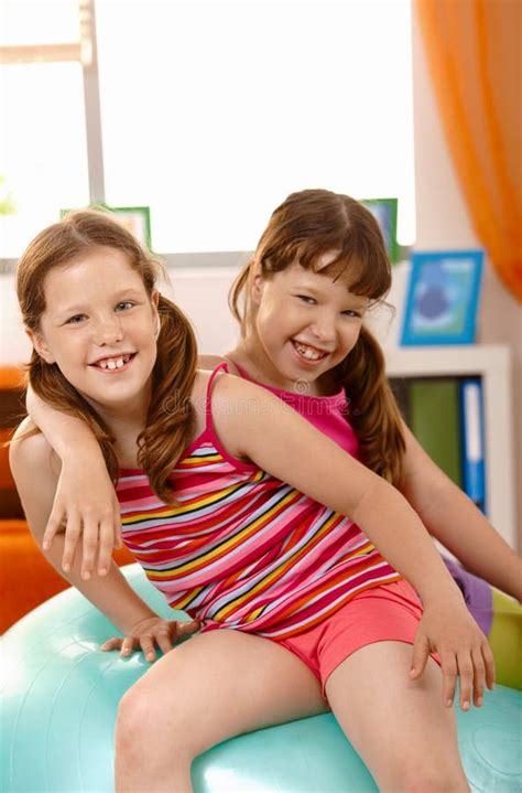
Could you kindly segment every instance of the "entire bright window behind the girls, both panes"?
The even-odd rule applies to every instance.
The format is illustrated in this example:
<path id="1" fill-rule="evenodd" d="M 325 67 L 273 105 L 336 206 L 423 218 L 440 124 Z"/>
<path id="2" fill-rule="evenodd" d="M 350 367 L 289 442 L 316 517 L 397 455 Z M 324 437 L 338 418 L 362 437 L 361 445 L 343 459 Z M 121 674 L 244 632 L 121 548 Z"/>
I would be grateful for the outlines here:
<path id="1" fill-rule="evenodd" d="M 0 45 L 70 54 L 91 1 L 8 1 Z M 413 242 L 410 0 L 97 0 L 96 31 L 99 168 L 80 54 L 0 66 L 0 176 L 18 208 L 0 216 L 0 256 L 87 205 L 94 168 L 90 200 L 149 205 L 160 253 L 250 250 L 272 210 L 308 186 L 399 197 L 399 239 Z"/>

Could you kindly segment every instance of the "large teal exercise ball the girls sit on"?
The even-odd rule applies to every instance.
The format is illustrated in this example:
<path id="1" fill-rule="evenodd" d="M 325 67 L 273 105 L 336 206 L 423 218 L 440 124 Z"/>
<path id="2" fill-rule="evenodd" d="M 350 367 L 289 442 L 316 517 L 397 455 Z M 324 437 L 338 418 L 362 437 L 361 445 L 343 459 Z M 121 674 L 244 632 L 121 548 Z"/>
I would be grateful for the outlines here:
<path id="1" fill-rule="evenodd" d="M 153 609 L 173 612 L 141 568 L 123 572 Z M 2 640 L 3 793 L 109 793 L 118 701 L 146 671 L 141 653 L 121 658 L 99 645 L 108 620 L 68 589 Z M 522 694 L 503 686 L 482 708 L 457 712 L 460 754 L 474 793 L 520 793 Z M 196 759 L 196 793 L 369 793 L 377 786 L 329 714 L 221 743 Z"/>

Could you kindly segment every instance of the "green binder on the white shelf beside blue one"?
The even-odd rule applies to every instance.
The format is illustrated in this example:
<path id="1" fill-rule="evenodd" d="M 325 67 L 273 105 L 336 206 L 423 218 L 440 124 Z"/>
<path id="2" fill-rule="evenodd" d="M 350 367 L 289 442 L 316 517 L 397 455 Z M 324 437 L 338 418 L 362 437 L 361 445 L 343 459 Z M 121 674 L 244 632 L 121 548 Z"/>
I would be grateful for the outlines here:
<path id="1" fill-rule="evenodd" d="M 432 460 L 461 487 L 458 381 L 413 381 L 409 397 L 410 429 Z"/>

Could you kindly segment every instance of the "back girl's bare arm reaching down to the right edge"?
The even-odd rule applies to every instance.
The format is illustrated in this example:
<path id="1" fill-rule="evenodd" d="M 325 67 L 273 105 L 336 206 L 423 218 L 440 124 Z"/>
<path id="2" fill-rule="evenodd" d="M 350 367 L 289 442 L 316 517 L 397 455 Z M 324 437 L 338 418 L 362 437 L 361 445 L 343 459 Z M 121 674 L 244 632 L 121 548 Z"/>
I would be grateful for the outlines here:
<path id="1" fill-rule="evenodd" d="M 403 425 L 406 453 L 402 493 L 427 531 L 463 565 L 522 601 L 522 559 L 468 496 L 438 468 Z"/>

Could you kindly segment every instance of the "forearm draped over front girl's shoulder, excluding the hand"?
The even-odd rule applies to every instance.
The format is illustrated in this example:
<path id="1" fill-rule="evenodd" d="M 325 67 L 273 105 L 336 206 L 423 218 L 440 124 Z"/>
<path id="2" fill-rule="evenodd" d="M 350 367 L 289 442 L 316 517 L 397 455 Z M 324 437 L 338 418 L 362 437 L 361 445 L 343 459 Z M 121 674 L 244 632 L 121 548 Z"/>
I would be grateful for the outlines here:
<path id="1" fill-rule="evenodd" d="M 28 388 L 25 407 L 61 460 L 77 456 L 78 450 L 102 459 L 99 444 L 85 421 L 51 407 L 31 387 Z"/>

